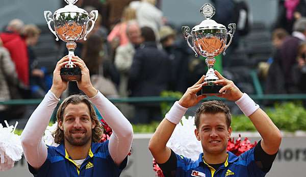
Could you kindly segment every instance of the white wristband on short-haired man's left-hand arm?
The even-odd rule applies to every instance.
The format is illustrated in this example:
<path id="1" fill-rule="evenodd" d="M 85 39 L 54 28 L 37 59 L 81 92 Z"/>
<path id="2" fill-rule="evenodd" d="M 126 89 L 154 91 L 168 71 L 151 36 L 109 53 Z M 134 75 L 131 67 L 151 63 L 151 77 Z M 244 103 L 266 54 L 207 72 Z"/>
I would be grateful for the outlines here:
<path id="1" fill-rule="evenodd" d="M 165 118 L 174 124 L 179 124 L 187 110 L 188 108 L 184 108 L 176 101 Z"/>

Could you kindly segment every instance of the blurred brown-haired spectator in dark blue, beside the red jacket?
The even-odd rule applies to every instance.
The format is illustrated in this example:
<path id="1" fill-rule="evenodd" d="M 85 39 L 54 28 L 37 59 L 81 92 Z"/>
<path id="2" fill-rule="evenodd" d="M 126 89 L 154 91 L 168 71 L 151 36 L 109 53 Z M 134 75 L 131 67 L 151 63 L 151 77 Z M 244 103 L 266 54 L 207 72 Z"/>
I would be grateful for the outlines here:
<path id="1" fill-rule="evenodd" d="M 46 68 L 38 68 L 37 57 L 33 50 L 33 47 L 37 44 L 40 32 L 40 29 L 35 24 L 27 24 L 21 31 L 21 34 L 25 38 L 25 43 L 27 43 L 28 47 L 30 88 L 32 98 L 43 98 L 47 90 L 44 81 Z"/>

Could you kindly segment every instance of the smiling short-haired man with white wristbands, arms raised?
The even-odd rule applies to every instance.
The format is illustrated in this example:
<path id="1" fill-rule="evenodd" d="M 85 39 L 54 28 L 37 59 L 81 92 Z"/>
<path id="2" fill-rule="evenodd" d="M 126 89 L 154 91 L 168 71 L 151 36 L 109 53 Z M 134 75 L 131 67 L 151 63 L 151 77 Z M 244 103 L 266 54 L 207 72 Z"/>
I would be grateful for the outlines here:
<path id="1" fill-rule="evenodd" d="M 159 164 L 165 176 L 265 176 L 276 157 L 282 135 L 268 115 L 242 93 L 235 84 L 222 77 L 215 84 L 223 85 L 220 97 L 235 101 L 241 111 L 249 117 L 262 136 L 256 147 L 247 150 L 239 157 L 226 151 L 231 138 L 231 114 L 228 107 L 217 101 L 205 102 L 195 114 L 197 140 L 201 141 L 203 153 L 197 161 L 175 154 L 166 146 L 176 124 L 189 107 L 195 106 L 205 95 L 197 96 L 201 90 L 205 75 L 188 88 L 179 102 L 175 102 L 165 119 L 160 123 L 149 142 L 149 150 Z"/>

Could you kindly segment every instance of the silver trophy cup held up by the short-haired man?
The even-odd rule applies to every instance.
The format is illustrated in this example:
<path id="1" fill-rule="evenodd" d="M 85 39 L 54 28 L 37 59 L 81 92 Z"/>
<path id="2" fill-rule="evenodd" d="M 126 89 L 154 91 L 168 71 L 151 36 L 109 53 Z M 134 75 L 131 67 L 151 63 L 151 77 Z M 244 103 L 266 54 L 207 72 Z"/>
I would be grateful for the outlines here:
<path id="1" fill-rule="evenodd" d="M 219 90 L 222 85 L 215 85 L 213 82 L 218 80 L 217 75 L 214 73 L 214 64 L 218 56 L 232 43 L 232 38 L 236 30 L 236 24 L 228 24 L 230 32 L 227 32 L 223 24 L 217 23 L 215 20 L 210 19 L 214 16 L 216 9 L 209 3 L 203 5 L 200 9 L 202 16 L 206 17 L 199 25 L 195 26 L 191 34 L 189 34 L 189 27 L 182 27 L 183 35 L 187 40 L 188 46 L 195 52 L 195 57 L 201 55 L 206 58 L 206 64 L 208 65 L 208 71 L 206 73 L 205 82 L 208 82 L 207 86 L 202 87 L 203 95 L 220 95 Z M 230 41 L 227 42 L 227 35 L 230 35 Z M 189 42 L 191 37 L 192 44 Z"/>

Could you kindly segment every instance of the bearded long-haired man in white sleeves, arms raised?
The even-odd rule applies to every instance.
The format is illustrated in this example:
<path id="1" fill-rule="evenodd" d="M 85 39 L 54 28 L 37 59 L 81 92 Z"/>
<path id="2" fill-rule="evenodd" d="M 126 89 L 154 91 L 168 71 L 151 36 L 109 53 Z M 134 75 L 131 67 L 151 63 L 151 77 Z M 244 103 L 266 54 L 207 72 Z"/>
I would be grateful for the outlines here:
<path id="1" fill-rule="evenodd" d="M 123 114 L 98 90 L 89 77 L 89 70 L 79 57 L 72 62 L 82 71 L 78 87 L 85 95 L 67 97 L 57 112 L 58 127 L 54 132 L 59 146 L 47 146 L 42 140 L 50 117 L 67 89 L 61 67 L 63 57 L 54 70 L 53 85 L 31 115 L 21 134 L 21 144 L 29 170 L 34 176 L 119 176 L 126 166 L 131 149 L 133 129 Z M 99 143 L 103 130 L 93 104 L 113 129 L 110 140 Z"/>

